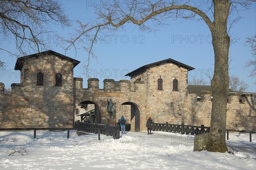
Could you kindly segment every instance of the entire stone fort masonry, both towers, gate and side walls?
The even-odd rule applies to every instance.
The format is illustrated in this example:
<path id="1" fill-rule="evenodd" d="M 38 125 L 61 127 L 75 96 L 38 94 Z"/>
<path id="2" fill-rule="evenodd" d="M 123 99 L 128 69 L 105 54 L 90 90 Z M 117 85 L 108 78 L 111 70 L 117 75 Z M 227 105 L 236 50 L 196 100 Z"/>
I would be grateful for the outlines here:
<path id="1" fill-rule="evenodd" d="M 54 65 L 51 64 L 54 62 Z M 44 85 L 36 85 L 36 73 L 44 74 Z M 123 115 L 131 130 L 146 130 L 145 122 L 186 125 L 210 125 L 212 99 L 202 91 L 201 100 L 187 89 L 187 70 L 172 63 L 151 66 L 129 80 L 87 80 L 73 77 L 73 64 L 52 55 L 28 59 L 21 70 L 21 83 L 12 84 L 12 94 L 5 94 L 0 83 L 0 127 L 73 127 L 75 109 L 81 102 L 96 105 L 97 121 L 108 123 L 107 99 L 116 106 L 116 122 Z M 55 86 L 55 74 L 62 74 L 62 85 Z M 163 89 L 157 80 L 163 79 Z M 173 90 L 177 79 L 178 89 Z M 256 104 L 251 94 L 243 94 L 242 102 L 236 93 L 227 99 L 227 128 L 256 130 Z"/>

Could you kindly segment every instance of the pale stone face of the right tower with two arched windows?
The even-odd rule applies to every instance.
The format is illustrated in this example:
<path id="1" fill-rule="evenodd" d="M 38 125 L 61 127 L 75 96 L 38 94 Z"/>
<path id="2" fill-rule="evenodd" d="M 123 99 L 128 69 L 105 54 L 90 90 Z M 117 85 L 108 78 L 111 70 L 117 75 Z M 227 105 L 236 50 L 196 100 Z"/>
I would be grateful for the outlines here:
<path id="1" fill-rule="evenodd" d="M 155 122 L 180 122 L 183 113 L 173 114 L 170 110 L 176 105 L 183 105 L 187 98 L 187 70 L 172 63 L 163 63 L 148 68 L 143 75 L 133 77 L 132 81 L 143 77 L 146 82 L 147 118 Z M 158 90 L 157 80 L 163 79 L 163 90 Z M 173 80 L 178 80 L 178 91 L 173 90 Z"/>

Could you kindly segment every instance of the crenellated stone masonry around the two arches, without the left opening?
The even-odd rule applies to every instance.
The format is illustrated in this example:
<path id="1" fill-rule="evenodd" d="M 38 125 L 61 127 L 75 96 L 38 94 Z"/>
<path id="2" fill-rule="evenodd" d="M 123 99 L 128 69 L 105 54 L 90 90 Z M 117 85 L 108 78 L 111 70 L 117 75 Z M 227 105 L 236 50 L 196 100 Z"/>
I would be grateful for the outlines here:
<path id="1" fill-rule="evenodd" d="M 107 105 L 108 99 L 112 99 L 113 103 L 116 106 L 116 122 L 121 116 L 125 116 L 127 119 L 127 124 L 134 122 L 135 119 L 139 120 L 140 130 L 143 130 L 146 115 L 145 115 L 145 83 L 143 81 L 135 81 L 133 83 L 134 89 L 131 90 L 131 82 L 128 80 L 120 80 L 119 82 L 114 81 L 113 79 L 104 80 L 104 88 L 99 89 L 99 80 L 98 79 L 88 79 L 88 88 L 82 88 L 82 79 L 76 79 L 76 106 L 81 102 L 93 102 L 99 107 L 101 123 L 108 123 L 108 111 Z M 137 116 L 131 117 L 131 107 L 130 105 L 135 105 L 139 110 Z M 139 117 L 138 117 L 139 116 Z M 134 119 L 132 119 L 134 118 Z M 138 123 L 138 122 L 137 122 Z M 135 126 L 131 124 L 131 126 Z M 135 128 L 135 127 L 131 127 Z"/>

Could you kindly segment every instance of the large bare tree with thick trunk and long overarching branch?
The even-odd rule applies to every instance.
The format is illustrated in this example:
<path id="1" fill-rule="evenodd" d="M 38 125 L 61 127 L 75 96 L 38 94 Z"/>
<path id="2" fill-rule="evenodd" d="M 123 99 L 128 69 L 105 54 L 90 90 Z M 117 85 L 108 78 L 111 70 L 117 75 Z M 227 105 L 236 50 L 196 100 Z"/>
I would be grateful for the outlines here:
<path id="1" fill-rule="evenodd" d="M 254 0 L 255 1 L 255 0 Z M 123 2 L 123 1 L 122 1 Z M 127 0 L 125 7 L 119 5 L 119 1 L 113 1 L 112 5 L 98 8 L 97 20 L 93 23 L 83 24 L 78 22 L 80 30 L 73 34 L 67 42 L 76 47 L 76 42 L 85 42 L 89 36 L 90 44 L 84 48 L 90 57 L 95 57 L 93 45 L 96 43 L 97 35 L 103 30 L 116 31 L 125 26 L 126 23 L 137 25 L 142 31 L 150 32 L 148 20 L 153 21 L 154 26 L 163 26 L 169 18 L 195 19 L 198 17 L 209 27 L 212 34 L 212 46 L 215 55 L 214 75 L 212 85 L 212 114 L 209 140 L 206 149 L 213 152 L 226 152 L 226 114 L 227 94 L 229 87 L 228 57 L 230 47 L 230 36 L 228 26 L 234 20 L 229 19 L 230 12 L 238 11 L 238 6 L 248 8 L 250 1 L 239 0 L 207 0 L 210 8 L 204 8 L 200 4 L 191 5 L 190 0 Z M 195 4 L 195 1 L 194 3 Z M 96 8 L 96 7 L 95 7 Z M 238 16 L 239 17 L 239 16 Z M 93 34 L 93 36 L 90 36 Z"/>

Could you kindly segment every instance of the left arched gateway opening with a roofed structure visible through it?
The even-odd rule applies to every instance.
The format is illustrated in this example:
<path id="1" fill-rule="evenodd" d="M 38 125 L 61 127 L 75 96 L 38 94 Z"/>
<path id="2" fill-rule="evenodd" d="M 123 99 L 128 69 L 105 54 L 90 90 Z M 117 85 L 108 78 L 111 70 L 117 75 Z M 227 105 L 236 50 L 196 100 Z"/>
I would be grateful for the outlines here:
<path id="1" fill-rule="evenodd" d="M 83 101 L 77 105 L 75 110 L 75 122 L 101 123 L 99 105 L 92 101 Z"/>

